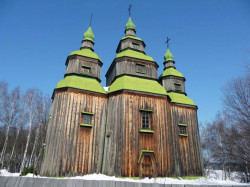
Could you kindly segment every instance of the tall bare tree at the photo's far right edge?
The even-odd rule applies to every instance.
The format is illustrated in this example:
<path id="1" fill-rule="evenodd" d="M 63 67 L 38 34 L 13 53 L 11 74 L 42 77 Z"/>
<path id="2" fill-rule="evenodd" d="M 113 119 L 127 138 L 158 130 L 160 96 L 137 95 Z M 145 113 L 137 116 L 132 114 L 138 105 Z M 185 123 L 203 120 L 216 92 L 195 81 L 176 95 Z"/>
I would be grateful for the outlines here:
<path id="1" fill-rule="evenodd" d="M 231 124 L 231 156 L 250 181 L 250 74 L 228 82 L 223 90 L 224 108 Z"/>

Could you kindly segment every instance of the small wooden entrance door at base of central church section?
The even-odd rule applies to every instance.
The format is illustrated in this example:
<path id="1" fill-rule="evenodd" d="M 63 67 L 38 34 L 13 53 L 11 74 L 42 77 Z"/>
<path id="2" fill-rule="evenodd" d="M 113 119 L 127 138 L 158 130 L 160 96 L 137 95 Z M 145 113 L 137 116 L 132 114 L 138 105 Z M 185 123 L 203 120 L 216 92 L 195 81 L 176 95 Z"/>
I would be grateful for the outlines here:
<path id="1" fill-rule="evenodd" d="M 156 177 L 156 160 L 154 153 L 143 153 L 140 160 L 140 178 Z"/>

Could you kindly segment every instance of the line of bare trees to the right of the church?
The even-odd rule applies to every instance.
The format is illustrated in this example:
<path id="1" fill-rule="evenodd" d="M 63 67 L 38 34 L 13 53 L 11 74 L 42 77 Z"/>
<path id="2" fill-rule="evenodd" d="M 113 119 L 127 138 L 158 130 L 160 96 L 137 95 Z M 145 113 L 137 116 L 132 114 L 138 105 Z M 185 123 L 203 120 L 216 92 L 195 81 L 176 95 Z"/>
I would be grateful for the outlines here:
<path id="1" fill-rule="evenodd" d="M 242 182 L 250 182 L 250 65 L 246 73 L 223 88 L 223 110 L 213 122 L 200 124 L 205 172 L 221 169 L 222 179 L 238 171 Z"/>

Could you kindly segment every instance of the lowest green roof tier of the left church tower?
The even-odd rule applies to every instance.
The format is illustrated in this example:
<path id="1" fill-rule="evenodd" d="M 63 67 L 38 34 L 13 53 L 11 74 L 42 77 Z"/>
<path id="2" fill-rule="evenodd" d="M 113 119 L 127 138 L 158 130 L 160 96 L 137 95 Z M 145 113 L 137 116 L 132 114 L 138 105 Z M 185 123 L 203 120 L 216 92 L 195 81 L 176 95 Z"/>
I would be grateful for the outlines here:
<path id="1" fill-rule="evenodd" d="M 76 88 L 102 94 L 107 93 L 96 79 L 77 75 L 65 77 L 58 82 L 56 88 Z"/>

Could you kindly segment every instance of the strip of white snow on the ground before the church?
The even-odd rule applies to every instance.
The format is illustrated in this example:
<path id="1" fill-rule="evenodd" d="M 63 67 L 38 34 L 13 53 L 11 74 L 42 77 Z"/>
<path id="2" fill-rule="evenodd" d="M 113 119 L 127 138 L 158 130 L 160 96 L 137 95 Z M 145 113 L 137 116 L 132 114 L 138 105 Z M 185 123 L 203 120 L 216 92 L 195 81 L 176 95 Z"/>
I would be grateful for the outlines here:
<path id="1" fill-rule="evenodd" d="M 7 170 L 0 170 L 0 176 L 19 176 L 20 173 L 9 173 Z M 47 178 L 42 176 L 36 176 L 33 174 L 27 174 L 24 177 L 37 177 L 37 178 Z M 69 179 L 68 177 L 65 178 L 57 178 L 57 179 Z M 103 174 L 89 174 L 84 176 L 76 176 L 70 177 L 70 179 L 83 179 L 83 180 L 112 180 L 112 181 L 128 181 L 128 182 L 140 182 L 140 183 L 160 183 L 160 184 L 214 184 L 214 185 L 246 185 L 244 183 L 239 183 L 230 180 L 220 180 L 220 179 L 213 179 L 213 178 L 199 178 L 196 180 L 184 180 L 184 179 L 173 179 L 173 178 L 156 178 L 156 179 L 149 179 L 145 178 L 142 180 L 133 180 L 130 178 L 117 178 L 114 176 L 107 176 Z M 248 184 L 249 185 L 249 184 Z"/>

